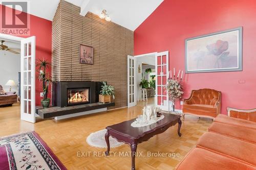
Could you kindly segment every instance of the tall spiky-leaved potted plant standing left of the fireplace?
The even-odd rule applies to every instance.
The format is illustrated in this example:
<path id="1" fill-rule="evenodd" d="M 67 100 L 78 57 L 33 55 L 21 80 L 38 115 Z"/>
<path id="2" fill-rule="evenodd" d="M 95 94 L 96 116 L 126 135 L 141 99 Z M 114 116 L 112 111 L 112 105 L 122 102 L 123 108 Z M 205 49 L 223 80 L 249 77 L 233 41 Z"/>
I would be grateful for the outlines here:
<path id="1" fill-rule="evenodd" d="M 48 98 L 48 88 L 49 88 L 49 85 L 51 85 L 52 80 L 49 72 L 46 72 L 46 69 L 50 68 L 51 63 L 49 63 L 48 60 L 39 59 L 36 66 L 37 66 L 37 72 L 39 74 L 38 79 L 39 81 L 42 82 L 42 92 L 44 95 L 44 99 L 41 100 L 41 105 L 43 108 L 48 108 L 51 101 L 51 99 Z"/>

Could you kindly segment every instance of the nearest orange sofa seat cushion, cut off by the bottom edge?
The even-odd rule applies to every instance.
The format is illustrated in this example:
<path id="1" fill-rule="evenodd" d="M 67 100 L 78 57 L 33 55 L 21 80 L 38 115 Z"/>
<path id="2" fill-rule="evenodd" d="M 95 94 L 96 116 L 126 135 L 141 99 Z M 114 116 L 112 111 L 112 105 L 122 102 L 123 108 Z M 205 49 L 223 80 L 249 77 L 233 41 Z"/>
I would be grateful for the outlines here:
<path id="1" fill-rule="evenodd" d="M 249 170 L 256 169 L 241 161 L 234 160 L 213 152 L 195 148 L 178 164 L 176 170 Z"/>

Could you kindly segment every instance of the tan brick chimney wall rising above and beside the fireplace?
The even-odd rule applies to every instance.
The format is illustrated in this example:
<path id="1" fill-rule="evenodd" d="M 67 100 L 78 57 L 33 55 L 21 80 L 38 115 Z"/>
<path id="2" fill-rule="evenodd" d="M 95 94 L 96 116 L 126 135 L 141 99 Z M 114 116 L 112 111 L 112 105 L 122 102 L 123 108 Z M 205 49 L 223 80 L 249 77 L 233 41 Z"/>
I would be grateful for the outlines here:
<path id="1" fill-rule="evenodd" d="M 54 81 L 107 81 L 115 86 L 116 106 L 127 106 L 127 55 L 133 55 L 133 31 L 61 0 L 52 23 Z M 94 64 L 79 63 L 79 45 L 94 48 Z M 113 99 L 112 99 L 113 100 Z"/>

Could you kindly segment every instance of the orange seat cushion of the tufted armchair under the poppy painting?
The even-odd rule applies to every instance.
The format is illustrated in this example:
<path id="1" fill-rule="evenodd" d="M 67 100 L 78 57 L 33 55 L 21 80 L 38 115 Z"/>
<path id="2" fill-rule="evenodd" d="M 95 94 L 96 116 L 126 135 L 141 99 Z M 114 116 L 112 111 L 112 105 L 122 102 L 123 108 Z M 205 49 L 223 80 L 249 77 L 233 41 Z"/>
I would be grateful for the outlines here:
<path id="1" fill-rule="evenodd" d="M 217 108 L 212 105 L 199 105 L 199 104 L 183 105 L 182 112 L 216 117 Z"/>

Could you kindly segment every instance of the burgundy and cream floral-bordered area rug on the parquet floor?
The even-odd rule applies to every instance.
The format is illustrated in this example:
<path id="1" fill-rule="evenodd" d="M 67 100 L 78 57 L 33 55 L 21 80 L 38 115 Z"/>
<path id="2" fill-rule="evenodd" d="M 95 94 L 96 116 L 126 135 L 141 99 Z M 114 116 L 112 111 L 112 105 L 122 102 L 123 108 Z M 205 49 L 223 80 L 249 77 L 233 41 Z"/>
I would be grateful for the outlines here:
<path id="1" fill-rule="evenodd" d="M 35 132 L 0 138 L 0 170 L 66 170 Z"/>

